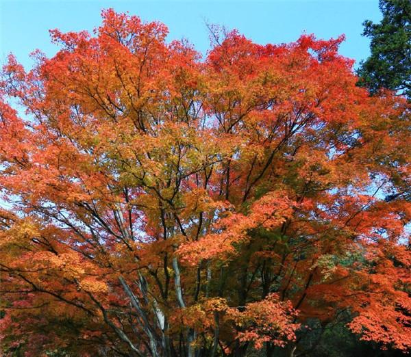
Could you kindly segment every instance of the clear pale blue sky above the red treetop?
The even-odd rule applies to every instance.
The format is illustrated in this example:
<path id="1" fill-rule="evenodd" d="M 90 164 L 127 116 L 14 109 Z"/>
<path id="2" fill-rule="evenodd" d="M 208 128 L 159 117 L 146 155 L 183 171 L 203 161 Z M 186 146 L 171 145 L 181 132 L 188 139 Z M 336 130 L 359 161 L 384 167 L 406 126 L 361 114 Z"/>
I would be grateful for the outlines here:
<path id="1" fill-rule="evenodd" d="M 369 55 L 362 22 L 381 18 L 377 0 L 0 0 L 0 63 L 10 52 L 26 67 L 34 49 L 53 55 L 58 48 L 50 43 L 49 29 L 92 31 L 103 8 L 161 21 L 170 40 L 187 38 L 202 53 L 209 45 L 206 22 L 236 28 L 261 44 L 295 41 L 303 32 L 319 38 L 345 34 L 340 52 L 357 61 Z"/>

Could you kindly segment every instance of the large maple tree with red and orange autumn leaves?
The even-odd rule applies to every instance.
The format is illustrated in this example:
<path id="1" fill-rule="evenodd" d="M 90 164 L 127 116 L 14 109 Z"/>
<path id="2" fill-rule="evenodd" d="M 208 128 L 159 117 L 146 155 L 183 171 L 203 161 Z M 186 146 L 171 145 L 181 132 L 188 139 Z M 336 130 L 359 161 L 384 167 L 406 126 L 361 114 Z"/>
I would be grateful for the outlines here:
<path id="1" fill-rule="evenodd" d="M 3 67 L 5 353 L 298 356 L 343 316 L 406 352 L 406 99 L 357 87 L 343 37 L 231 31 L 202 59 L 102 16 Z"/>

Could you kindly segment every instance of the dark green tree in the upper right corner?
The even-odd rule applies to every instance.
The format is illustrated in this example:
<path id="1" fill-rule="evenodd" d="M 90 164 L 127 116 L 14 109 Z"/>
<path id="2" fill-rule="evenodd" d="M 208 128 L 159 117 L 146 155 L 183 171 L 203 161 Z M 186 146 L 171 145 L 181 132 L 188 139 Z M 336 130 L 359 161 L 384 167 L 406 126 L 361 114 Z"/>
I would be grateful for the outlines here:
<path id="1" fill-rule="evenodd" d="M 411 3 L 379 0 L 381 23 L 364 21 L 363 36 L 371 38 L 371 55 L 361 63 L 360 85 L 375 93 L 381 88 L 411 98 Z"/>

